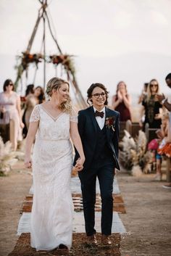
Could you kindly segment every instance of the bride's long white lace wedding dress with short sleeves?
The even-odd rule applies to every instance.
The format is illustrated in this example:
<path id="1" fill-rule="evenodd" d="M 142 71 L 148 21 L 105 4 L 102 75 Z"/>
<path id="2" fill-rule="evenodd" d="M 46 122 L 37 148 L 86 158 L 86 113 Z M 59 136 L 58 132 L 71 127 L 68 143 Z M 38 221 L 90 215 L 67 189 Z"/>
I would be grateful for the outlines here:
<path id="1" fill-rule="evenodd" d="M 72 244 L 72 145 L 70 122 L 77 114 L 63 112 L 57 118 L 36 105 L 30 122 L 39 120 L 33 149 L 33 208 L 31 212 L 31 247 L 51 250 Z"/>

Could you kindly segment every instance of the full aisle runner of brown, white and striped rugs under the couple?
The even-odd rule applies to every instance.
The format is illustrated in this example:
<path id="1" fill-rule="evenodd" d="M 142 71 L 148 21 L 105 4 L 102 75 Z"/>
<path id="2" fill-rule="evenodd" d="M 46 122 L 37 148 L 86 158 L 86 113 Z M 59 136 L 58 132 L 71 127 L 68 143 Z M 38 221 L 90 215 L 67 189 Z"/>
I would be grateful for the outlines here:
<path id="1" fill-rule="evenodd" d="M 103 246 L 99 243 L 96 246 L 90 246 L 86 244 L 86 234 L 81 233 L 84 231 L 84 220 L 83 220 L 83 199 L 80 194 L 80 184 L 78 178 L 72 178 L 72 200 L 75 207 L 75 231 L 73 231 L 72 248 L 70 252 L 66 250 L 56 249 L 51 252 L 36 252 L 35 249 L 30 247 L 30 212 L 33 205 L 33 194 L 28 194 L 25 197 L 20 213 L 20 223 L 18 226 L 18 234 L 21 234 L 17 240 L 17 244 L 9 256 L 34 256 L 34 255 L 70 255 L 70 256 L 121 256 L 120 254 L 120 234 L 125 233 L 125 228 L 122 225 L 118 213 L 125 213 L 125 205 L 120 194 L 120 189 L 117 185 L 117 181 L 114 181 L 114 207 L 113 207 L 113 223 L 114 232 L 112 233 L 112 246 Z M 101 216 L 101 197 L 99 194 L 99 185 L 97 184 L 96 194 L 96 221 L 100 227 L 100 216 Z M 117 213 L 118 212 L 118 213 Z M 98 228 L 97 228 L 98 231 Z M 113 232 L 113 231 L 112 231 Z M 101 241 L 101 234 L 97 233 L 98 241 Z"/>

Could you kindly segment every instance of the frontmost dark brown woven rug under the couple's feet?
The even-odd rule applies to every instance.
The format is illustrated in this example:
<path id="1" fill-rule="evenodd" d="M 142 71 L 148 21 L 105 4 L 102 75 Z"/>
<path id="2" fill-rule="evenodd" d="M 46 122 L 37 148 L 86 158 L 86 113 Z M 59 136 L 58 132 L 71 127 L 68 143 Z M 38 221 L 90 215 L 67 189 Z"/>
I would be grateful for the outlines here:
<path id="1" fill-rule="evenodd" d="M 56 249 L 51 252 L 36 252 L 30 247 L 30 234 L 22 234 L 17 240 L 17 244 L 8 256 L 46 256 L 46 255 L 70 255 L 70 256 L 121 256 L 120 254 L 120 234 L 112 234 L 112 246 L 92 246 L 85 243 L 86 234 L 73 234 L 72 248 L 70 251 L 64 249 Z M 97 234 L 100 241 L 101 235 Z"/>

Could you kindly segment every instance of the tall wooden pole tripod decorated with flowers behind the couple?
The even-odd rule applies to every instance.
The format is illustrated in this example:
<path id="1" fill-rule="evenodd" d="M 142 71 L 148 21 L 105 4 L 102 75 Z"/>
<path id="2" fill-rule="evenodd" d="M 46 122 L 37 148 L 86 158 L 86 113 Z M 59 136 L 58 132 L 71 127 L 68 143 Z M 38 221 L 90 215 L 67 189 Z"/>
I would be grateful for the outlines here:
<path id="1" fill-rule="evenodd" d="M 28 42 L 28 47 L 25 52 L 22 52 L 21 62 L 17 66 L 17 78 L 14 82 L 15 89 L 17 89 L 19 81 L 22 83 L 22 74 L 26 73 L 26 78 L 28 77 L 28 66 L 32 62 L 36 63 L 36 70 L 38 70 L 38 62 L 41 62 L 43 60 L 43 87 L 46 88 L 46 64 L 47 62 L 53 62 L 54 65 L 62 65 L 64 67 L 64 71 L 67 74 L 67 80 L 72 85 L 72 88 L 74 88 L 75 91 L 75 99 L 79 105 L 80 108 L 87 107 L 87 104 L 85 102 L 85 99 L 83 98 L 83 95 L 81 94 L 81 91 L 78 87 L 78 83 L 75 79 L 75 72 L 74 68 L 71 67 L 71 59 L 69 55 L 64 55 L 62 53 L 62 49 L 59 47 L 59 44 L 57 42 L 57 38 L 55 38 L 52 30 L 51 30 L 51 23 L 49 20 L 49 16 L 47 14 L 47 0 L 38 0 L 41 3 L 41 8 L 38 10 L 38 18 L 36 20 L 36 25 L 33 29 L 33 33 L 30 37 L 30 40 Z M 33 41 L 36 36 L 36 32 L 38 30 L 38 25 L 40 24 L 40 21 L 43 19 L 43 41 L 41 49 L 43 48 L 43 54 L 30 54 L 30 50 L 33 46 Z M 57 46 L 57 50 L 59 51 L 59 55 L 53 55 L 50 56 L 50 61 L 46 60 L 46 24 L 48 25 L 49 32 L 51 34 L 52 39 L 54 40 L 54 43 Z M 35 73 L 36 78 L 36 73 Z M 35 80 L 34 78 L 34 80 Z"/>

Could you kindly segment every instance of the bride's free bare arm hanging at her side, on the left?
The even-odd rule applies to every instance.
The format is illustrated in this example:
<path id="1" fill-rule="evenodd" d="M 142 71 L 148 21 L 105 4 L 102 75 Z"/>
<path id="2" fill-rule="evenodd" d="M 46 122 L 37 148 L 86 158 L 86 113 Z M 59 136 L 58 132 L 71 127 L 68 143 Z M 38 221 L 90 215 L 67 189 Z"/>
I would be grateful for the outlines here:
<path id="1" fill-rule="evenodd" d="M 31 168 L 31 147 L 33 145 L 33 141 L 36 136 L 36 132 L 38 130 L 38 121 L 31 122 L 28 128 L 28 135 L 25 141 L 25 168 Z"/>

